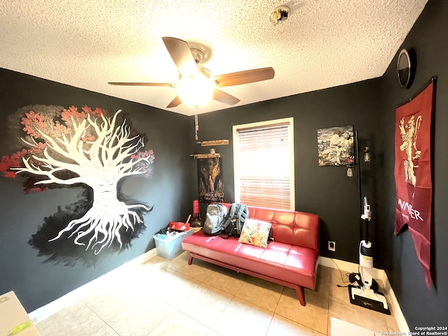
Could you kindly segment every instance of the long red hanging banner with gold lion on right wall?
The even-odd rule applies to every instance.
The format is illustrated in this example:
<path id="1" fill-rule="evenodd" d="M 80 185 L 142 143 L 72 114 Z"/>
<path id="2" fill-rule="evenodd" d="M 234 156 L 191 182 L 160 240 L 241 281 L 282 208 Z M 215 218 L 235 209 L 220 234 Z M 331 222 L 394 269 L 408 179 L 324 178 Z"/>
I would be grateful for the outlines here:
<path id="1" fill-rule="evenodd" d="M 395 230 L 407 224 L 430 288 L 430 227 L 433 203 L 431 120 L 434 80 L 395 114 Z"/>

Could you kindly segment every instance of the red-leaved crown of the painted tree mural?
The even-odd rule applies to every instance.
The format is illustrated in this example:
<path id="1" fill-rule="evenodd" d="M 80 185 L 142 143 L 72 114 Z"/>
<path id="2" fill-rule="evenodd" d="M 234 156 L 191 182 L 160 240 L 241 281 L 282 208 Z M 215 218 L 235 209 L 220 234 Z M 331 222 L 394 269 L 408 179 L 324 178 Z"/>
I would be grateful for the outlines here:
<path id="1" fill-rule="evenodd" d="M 30 175 L 24 175 L 26 178 L 24 190 L 26 191 L 45 190 L 46 187 L 41 187 L 39 181 L 48 179 L 49 176 L 54 176 L 55 181 L 57 179 L 60 181 L 60 179 L 68 179 L 67 176 L 73 179 L 73 175 L 81 175 L 79 170 L 64 171 L 63 167 L 70 167 L 70 165 L 74 167 L 73 164 L 79 165 L 79 162 L 83 162 L 80 159 L 71 162 L 73 156 L 67 155 L 67 152 L 73 151 L 73 153 L 79 154 L 77 150 L 82 148 L 81 155 L 82 153 L 85 153 L 87 157 L 92 155 L 90 160 L 97 160 L 99 157 L 95 153 L 98 153 L 98 148 L 102 148 L 101 151 L 106 151 L 107 146 L 114 146 L 114 141 L 118 140 L 119 136 L 124 140 L 129 137 L 130 141 L 139 139 L 139 134 L 135 137 L 130 136 L 134 131 L 127 131 L 122 127 L 120 132 L 113 135 L 115 140 L 98 147 L 98 144 L 95 144 L 98 137 L 107 136 L 107 134 L 99 132 L 99 129 L 107 127 L 112 120 L 105 118 L 107 114 L 108 112 L 104 109 L 98 107 L 91 109 L 89 106 L 83 106 L 80 110 L 76 106 L 70 106 L 68 109 L 58 108 L 58 106 L 30 106 L 29 110 L 25 110 L 20 118 L 20 123 L 23 125 L 22 130 L 27 134 L 27 137 L 20 137 L 25 149 L 3 156 L 0 160 L 0 173 L 3 173 L 6 178 L 15 178 L 17 170 L 22 173 L 29 172 Z M 83 132 L 80 133 L 79 130 L 83 130 Z M 76 145 L 76 148 L 72 148 L 73 144 L 69 144 L 69 141 L 74 139 L 73 137 L 77 137 L 76 139 L 82 141 L 83 145 L 79 145 L 79 147 Z M 143 145 L 141 139 L 138 140 L 138 144 L 125 145 L 135 148 L 135 151 L 123 159 L 122 163 L 130 165 L 123 169 L 127 172 L 130 171 L 129 169 L 137 169 L 134 173 L 150 176 L 153 172 L 152 165 L 155 156 L 152 150 L 139 151 Z M 92 152 L 90 152 L 90 148 L 94 148 Z M 105 158 L 109 158 L 109 156 L 105 156 L 103 159 Z M 101 166 L 104 162 L 100 160 L 97 163 Z M 36 179 L 35 175 L 40 177 Z M 38 186 L 34 186 L 35 183 L 38 183 Z"/>

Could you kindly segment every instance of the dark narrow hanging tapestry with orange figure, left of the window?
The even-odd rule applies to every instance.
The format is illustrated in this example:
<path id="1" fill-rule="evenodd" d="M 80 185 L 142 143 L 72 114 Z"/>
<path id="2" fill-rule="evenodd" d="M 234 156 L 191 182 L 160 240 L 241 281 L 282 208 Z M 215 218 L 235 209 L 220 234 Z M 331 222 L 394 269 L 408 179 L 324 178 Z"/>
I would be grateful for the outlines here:
<path id="1" fill-rule="evenodd" d="M 200 202 L 224 202 L 221 158 L 197 159 L 197 179 Z"/>

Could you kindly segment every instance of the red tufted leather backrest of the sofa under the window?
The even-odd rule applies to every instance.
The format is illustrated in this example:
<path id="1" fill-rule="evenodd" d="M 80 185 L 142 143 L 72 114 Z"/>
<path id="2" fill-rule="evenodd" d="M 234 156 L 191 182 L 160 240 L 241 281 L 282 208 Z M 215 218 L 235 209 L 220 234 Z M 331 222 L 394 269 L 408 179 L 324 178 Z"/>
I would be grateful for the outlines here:
<path id="1" fill-rule="evenodd" d="M 224 203 L 230 207 L 229 203 Z M 272 223 L 272 238 L 319 251 L 319 216 L 300 211 L 251 207 L 249 218 Z"/>

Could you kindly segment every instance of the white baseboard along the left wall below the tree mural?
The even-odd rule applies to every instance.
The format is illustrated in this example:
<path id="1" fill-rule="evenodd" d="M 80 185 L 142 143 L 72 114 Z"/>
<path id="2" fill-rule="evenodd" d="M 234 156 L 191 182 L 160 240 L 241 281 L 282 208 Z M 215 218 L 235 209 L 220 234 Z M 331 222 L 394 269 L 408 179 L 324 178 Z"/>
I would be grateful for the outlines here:
<path id="1" fill-rule="evenodd" d="M 30 319 L 35 318 L 35 321 L 42 321 L 45 318 L 50 317 L 51 315 L 57 313 L 57 311 L 60 311 L 66 307 L 69 307 L 70 304 L 73 304 L 74 302 L 78 301 L 80 297 L 84 297 L 85 295 L 88 295 L 89 293 L 92 293 L 92 290 L 95 288 L 95 283 L 97 281 L 101 281 L 104 279 L 105 276 L 111 276 L 111 274 L 115 272 L 122 272 L 123 269 L 126 267 L 131 267 L 134 265 L 141 265 L 150 260 L 151 258 L 155 257 L 156 251 L 155 248 L 152 248 L 148 252 L 139 255 L 137 258 L 134 258 L 125 264 L 117 267 L 116 269 L 112 269 L 111 272 L 108 272 L 102 276 L 99 276 L 99 278 L 94 279 L 88 283 L 85 283 L 85 285 L 80 286 L 76 288 L 75 290 L 72 290 L 70 293 L 67 293 L 66 295 L 59 297 L 55 301 L 50 302 L 49 304 L 45 304 L 45 306 L 40 307 L 34 311 L 31 311 L 31 313 L 28 314 Z"/>

